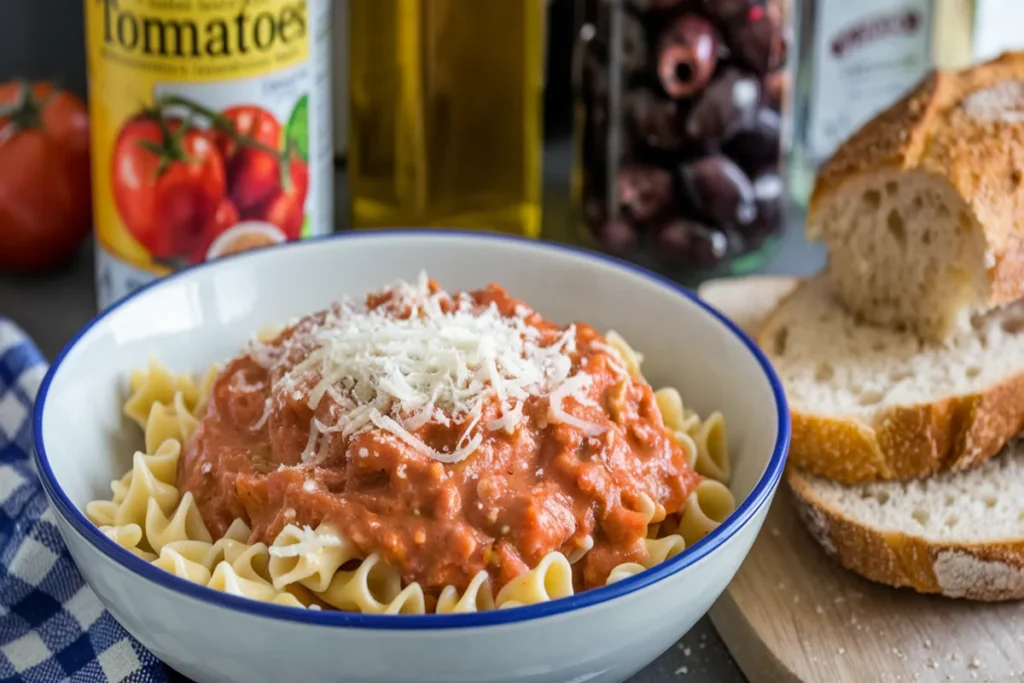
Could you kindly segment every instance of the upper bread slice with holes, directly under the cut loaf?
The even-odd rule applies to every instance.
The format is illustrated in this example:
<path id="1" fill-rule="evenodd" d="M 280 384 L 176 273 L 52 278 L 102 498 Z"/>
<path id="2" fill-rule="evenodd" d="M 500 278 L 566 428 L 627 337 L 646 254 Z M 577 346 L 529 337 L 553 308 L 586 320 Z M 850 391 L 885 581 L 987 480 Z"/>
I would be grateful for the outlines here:
<path id="1" fill-rule="evenodd" d="M 864 323 L 823 274 L 802 283 L 758 343 L 785 388 L 790 462 L 843 483 L 978 465 L 1024 429 L 1024 302 L 945 343 Z"/>

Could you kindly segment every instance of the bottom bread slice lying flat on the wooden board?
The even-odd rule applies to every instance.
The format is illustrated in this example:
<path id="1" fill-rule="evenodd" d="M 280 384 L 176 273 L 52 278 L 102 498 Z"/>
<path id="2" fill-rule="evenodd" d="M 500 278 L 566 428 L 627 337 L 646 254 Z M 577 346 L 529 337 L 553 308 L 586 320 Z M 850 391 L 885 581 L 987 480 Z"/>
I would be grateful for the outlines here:
<path id="1" fill-rule="evenodd" d="M 966 472 L 845 486 L 786 472 L 811 536 L 865 579 L 973 600 L 1024 599 L 1024 444 Z"/>

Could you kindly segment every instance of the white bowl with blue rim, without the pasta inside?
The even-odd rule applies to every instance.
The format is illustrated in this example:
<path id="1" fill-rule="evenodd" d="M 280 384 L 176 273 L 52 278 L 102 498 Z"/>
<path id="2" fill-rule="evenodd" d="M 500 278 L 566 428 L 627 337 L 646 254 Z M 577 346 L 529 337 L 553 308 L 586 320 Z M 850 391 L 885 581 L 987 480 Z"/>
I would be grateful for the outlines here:
<path id="1" fill-rule="evenodd" d="M 614 329 L 655 386 L 726 417 L 736 512 L 675 558 L 571 598 L 479 614 L 303 611 L 217 593 L 151 566 L 83 509 L 139 444 L 121 414 L 128 372 L 159 357 L 201 371 L 265 324 L 421 269 L 447 289 L 489 282 L 559 322 Z M 790 439 L 778 379 L 755 344 L 683 289 L 577 249 L 460 231 L 354 232 L 230 256 L 152 285 L 89 324 L 46 376 L 38 466 L 60 532 L 114 616 L 197 681 L 480 683 L 623 681 L 708 611 L 742 562 Z"/>

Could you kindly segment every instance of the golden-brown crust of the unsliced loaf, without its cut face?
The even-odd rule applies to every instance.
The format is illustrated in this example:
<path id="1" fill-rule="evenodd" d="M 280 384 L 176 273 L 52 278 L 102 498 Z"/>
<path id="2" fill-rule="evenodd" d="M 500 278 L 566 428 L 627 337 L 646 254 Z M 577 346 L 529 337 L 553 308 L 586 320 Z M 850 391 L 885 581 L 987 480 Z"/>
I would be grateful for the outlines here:
<path id="1" fill-rule="evenodd" d="M 808 205 L 810 239 L 822 234 L 827 201 L 850 182 L 881 171 L 912 171 L 947 182 L 966 203 L 965 229 L 986 245 L 985 303 L 1024 297 L 1024 120 L 980 117 L 968 95 L 1024 81 L 1024 52 L 1008 52 L 963 72 L 936 71 L 864 124 L 818 171 Z M 1024 111 L 1024 102 L 1019 106 Z"/>

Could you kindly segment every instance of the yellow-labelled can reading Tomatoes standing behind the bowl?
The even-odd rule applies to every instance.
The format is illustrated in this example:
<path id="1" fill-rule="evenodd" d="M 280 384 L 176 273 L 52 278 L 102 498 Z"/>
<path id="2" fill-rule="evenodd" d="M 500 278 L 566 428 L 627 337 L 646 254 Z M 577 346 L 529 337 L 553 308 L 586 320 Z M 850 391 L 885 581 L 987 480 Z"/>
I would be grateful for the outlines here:
<path id="1" fill-rule="evenodd" d="M 330 0 L 85 0 L 96 282 L 333 224 Z"/>

